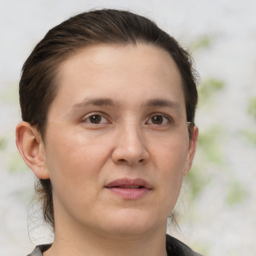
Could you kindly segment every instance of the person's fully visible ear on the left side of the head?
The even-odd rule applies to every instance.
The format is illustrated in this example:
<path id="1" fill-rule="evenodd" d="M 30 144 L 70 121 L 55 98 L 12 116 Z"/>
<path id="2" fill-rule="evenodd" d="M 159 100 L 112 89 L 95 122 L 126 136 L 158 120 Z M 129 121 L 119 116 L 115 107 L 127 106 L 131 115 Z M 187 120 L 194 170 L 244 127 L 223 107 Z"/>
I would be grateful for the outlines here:
<path id="1" fill-rule="evenodd" d="M 16 146 L 35 176 L 49 178 L 45 161 L 44 144 L 38 130 L 28 122 L 21 121 L 16 127 Z"/>

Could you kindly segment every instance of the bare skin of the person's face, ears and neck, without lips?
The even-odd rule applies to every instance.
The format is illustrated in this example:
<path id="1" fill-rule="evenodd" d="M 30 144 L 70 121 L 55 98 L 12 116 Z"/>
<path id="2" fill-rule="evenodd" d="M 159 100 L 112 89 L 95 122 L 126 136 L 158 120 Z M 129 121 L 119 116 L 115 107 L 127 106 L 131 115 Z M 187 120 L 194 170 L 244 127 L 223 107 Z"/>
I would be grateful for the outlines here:
<path id="1" fill-rule="evenodd" d="M 44 141 L 26 122 L 16 128 L 25 162 L 52 183 L 55 235 L 44 256 L 166 255 L 167 217 L 198 133 L 189 141 L 174 61 L 150 45 L 90 46 L 61 64 L 59 85 Z M 120 178 L 150 189 L 122 198 L 105 187 Z"/>

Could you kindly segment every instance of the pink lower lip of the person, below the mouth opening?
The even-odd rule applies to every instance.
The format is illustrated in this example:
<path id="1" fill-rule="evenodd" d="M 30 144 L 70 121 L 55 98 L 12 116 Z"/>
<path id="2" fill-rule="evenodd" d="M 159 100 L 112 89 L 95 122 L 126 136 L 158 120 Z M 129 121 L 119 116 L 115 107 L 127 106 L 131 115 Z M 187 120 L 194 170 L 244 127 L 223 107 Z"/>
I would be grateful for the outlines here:
<path id="1" fill-rule="evenodd" d="M 120 187 L 106 187 L 109 191 L 124 199 L 138 199 L 149 193 L 149 189 L 142 188 L 120 188 Z"/>

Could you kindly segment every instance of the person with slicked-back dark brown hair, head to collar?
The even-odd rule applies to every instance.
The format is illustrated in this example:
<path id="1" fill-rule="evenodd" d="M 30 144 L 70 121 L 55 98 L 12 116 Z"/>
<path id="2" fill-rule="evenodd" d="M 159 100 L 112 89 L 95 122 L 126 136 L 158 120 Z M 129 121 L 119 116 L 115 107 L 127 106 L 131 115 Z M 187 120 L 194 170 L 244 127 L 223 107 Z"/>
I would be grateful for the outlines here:
<path id="1" fill-rule="evenodd" d="M 55 26 L 23 65 L 16 144 L 52 244 L 29 255 L 199 255 L 165 235 L 198 129 L 191 59 L 145 17 Z"/>

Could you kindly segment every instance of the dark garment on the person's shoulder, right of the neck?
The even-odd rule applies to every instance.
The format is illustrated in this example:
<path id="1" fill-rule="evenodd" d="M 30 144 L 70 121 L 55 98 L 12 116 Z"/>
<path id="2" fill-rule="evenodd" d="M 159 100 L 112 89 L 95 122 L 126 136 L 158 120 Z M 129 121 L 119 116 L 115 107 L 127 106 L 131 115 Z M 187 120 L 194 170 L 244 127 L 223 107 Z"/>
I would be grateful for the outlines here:
<path id="1" fill-rule="evenodd" d="M 202 254 L 193 251 L 186 244 L 168 234 L 166 234 L 166 251 L 168 256 L 202 256 Z"/>

